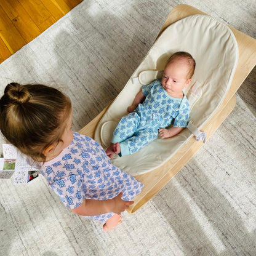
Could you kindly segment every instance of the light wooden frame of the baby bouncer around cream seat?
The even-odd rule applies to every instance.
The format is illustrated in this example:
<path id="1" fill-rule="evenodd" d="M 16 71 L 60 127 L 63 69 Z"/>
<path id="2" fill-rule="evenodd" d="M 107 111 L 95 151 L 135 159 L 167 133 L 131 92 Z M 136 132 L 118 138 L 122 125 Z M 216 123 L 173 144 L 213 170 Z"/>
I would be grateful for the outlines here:
<path id="1" fill-rule="evenodd" d="M 195 14 L 207 15 L 204 12 L 201 12 L 201 10 L 186 4 L 180 4 L 174 7 L 167 17 L 166 22 L 162 26 L 158 37 L 170 24 Z M 236 41 L 238 42 L 238 66 L 225 100 L 220 108 L 218 108 L 214 116 L 212 116 L 207 124 L 201 129 L 206 132 L 207 138 L 214 134 L 215 130 L 218 129 L 218 127 L 234 109 L 234 106 L 236 105 L 236 96 L 234 94 L 241 86 L 242 82 L 244 82 L 250 71 L 252 71 L 252 68 L 254 68 L 256 65 L 256 40 L 250 36 L 247 36 L 241 31 L 232 28 L 231 26 L 230 28 L 236 37 Z M 98 116 L 90 121 L 89 124 L 79 130 L 79 133 L 94 138 L 94 132 L 97 124 L 102 118 L 103 114 L 105 114 L 107 108 L 108 106 L 100 114 L 98 114 Z M 202 145 L 202 142 L 198 142 L 194 137 L 192 137 L 190 140 L 188 140 L 188 143 L 183 145 L 182 148 L 180 148 L 180 150 L 178 150 L 177 153 L 166 162 L 166 164 L 163 164 L 161 167 L 158 167 L 157 169 L 154 169 L 146 174 L 135 176 L 135 178 L 144 184 L 144 188 L 140 194 L 135 196 L 134 204 L 132 204 L 127 211 L 132 214 L 142 207 L 143 204 L 153 198 L 153 196 L 164 188 L 164 186 L 166 186 L 166 184 L 179 172 L 179 170 L 185 166 L 186 162 L 193 157 L 193 155 L 201 148 Z"/>

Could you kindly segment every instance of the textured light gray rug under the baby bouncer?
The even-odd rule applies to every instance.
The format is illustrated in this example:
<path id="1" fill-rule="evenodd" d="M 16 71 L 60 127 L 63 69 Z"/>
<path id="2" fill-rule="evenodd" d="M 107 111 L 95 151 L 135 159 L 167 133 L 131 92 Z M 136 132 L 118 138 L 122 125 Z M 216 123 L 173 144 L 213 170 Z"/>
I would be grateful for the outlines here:
<path id="1" fill-rule="evenodd" d="M 10 81 L 56 85 L 78 131 L 113 100 L 177 4 L 256 38 L 255 0 L 84 1 L 0 65 Z M 42 177 L 0 180 L 0 255 L 256 255 L 256 70 L 234 111 L 175 178 L 116 230 L 74 215 Z"/>

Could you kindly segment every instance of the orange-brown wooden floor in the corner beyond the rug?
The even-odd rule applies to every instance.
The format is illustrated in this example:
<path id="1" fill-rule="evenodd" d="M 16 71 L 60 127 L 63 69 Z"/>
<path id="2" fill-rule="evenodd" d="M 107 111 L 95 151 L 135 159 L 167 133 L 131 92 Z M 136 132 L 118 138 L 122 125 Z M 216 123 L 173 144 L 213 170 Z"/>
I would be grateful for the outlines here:
<path id="1" fill-rule="evenodd" d="M 82 0 L 0 0 L 0 63 Z"/>

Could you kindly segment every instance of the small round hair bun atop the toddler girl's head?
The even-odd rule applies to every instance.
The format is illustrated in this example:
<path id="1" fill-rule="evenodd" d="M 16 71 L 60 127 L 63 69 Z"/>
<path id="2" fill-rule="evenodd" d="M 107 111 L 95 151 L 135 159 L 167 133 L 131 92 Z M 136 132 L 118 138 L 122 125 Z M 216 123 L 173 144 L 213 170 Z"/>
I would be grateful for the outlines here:
<path id="1" fill-rule="evenodd" d="M 25 86 L 21 86 L 17 82 L 7 84 L 4 94 L 8 95 L 10 101 L 17 104 L 23 104 L 30 100 L 30 93 Z"/>

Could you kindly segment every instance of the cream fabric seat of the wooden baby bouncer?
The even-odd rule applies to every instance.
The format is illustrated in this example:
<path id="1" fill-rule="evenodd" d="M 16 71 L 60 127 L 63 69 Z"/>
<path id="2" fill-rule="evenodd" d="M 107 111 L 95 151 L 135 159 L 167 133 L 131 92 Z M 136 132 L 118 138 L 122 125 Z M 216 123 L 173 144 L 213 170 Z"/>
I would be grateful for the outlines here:
<path id="1" fill-rule="evenodd" d="M 191 122 L 200 129 L 218 110 L 236 71 L 238 44 L 230 28 L 216 18 L 191 15 L 164 30 L 103 115 L 95 130 L 95 140 L 103 148 L 110 145 L 116 124 L 127 114 L 127 106 L 142 85 L 161 76 L 167 58 L 180 50 L 189 52 L 196 60 L 191 86 L 185 92 L 192 105 Z M 114 156 L 111 161 L 131 175 L 144 174 L 167 162 L 192 136 L 185 129 L 176 137 L 157 138 L 137 153 Z"/>

